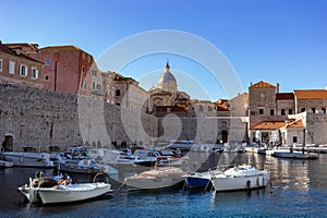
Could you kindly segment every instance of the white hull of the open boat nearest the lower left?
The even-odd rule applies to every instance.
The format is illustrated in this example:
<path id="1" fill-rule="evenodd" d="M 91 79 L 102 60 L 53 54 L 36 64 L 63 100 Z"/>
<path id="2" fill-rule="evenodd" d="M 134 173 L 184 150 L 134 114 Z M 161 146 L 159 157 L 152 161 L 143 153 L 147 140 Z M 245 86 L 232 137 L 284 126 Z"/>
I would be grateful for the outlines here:
<path id="1" fill-rule="evenodd" d="M 111 185 L 97 182 L 86 184 L 71 184 L 61 186 L 39 189 L 38 195 L 43 204 L 69 203 L 90 199 L 112 192 Z"/>

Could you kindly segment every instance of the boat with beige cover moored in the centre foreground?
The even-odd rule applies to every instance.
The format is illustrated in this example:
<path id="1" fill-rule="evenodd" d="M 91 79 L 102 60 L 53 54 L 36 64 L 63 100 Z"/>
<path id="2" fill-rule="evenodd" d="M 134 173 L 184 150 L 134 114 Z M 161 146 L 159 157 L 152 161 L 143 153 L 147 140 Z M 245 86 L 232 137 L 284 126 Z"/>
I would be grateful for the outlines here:
<path id="1" fill-rule="evenodd" d="M 128 177 L 124 184 L 136 190 L 153 190 L 177 185 L 184 180 L 183 172 L 179 168 L 162 167 L 144 171 L 133 177 Z"/>

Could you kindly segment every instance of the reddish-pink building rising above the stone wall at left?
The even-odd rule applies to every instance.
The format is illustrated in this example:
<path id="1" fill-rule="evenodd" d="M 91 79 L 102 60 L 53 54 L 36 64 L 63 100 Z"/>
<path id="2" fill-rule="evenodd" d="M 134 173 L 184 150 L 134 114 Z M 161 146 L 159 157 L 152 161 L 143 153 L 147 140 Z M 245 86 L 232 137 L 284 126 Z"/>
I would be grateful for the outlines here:
<path id="1" fill-rule="evenodd" d="M 76 46 L 49 46 L 40 48 L 38 56 L 45 63 L 45 89 L 89 96 L 94 64 L 89 53 Z"/>

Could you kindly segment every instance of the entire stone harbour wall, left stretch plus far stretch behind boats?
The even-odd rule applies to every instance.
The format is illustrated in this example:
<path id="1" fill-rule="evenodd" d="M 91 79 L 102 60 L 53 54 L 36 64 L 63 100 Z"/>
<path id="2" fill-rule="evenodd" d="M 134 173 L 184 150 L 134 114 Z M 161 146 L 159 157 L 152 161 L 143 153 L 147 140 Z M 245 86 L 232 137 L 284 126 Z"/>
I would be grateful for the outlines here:
<path id="1" fill-rule="evenodd" d="M 0 141 L 13 150 L 72 145 L 109 147 L 122 142 L 245 141 L 242 118 L 156 118 L 89 97 L 0 83 Z"/>

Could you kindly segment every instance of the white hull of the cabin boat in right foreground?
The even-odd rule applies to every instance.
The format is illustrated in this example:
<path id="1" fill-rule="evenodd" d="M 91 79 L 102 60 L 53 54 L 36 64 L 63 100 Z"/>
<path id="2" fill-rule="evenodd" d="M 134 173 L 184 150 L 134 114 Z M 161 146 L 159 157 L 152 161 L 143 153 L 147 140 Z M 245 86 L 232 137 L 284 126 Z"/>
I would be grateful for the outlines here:
<path id="1" fill-rule="evenodd" d="M 265 187 L 269 181 L 269 174 L 249 177 L 221 177 L 213 178 L 211 183 L 216 192 L 233 190 L 252 190 Z"/>

